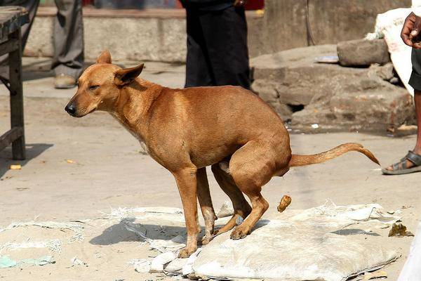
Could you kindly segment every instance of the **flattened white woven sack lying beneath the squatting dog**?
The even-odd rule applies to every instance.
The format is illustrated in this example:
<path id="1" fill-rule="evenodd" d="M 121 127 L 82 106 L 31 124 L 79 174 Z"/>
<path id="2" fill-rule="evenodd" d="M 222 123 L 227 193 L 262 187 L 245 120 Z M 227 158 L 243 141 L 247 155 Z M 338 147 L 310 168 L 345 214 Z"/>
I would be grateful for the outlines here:
<path id="1" fill-rule="evenodd" d="M 222 234 L 194 262 L 202 277 L 340 281 L 399 257 L 389 237 L 376 233 L 398 220 L 378 204 L 325 204 L 283 220 L 260 220 L 242 240 Z"/>

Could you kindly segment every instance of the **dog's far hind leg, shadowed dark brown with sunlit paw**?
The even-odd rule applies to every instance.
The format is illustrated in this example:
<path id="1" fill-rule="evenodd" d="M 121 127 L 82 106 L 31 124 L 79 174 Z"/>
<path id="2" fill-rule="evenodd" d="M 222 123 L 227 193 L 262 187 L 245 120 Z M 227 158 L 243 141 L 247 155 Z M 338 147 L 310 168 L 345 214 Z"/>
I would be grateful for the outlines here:
<path id="1" fill-rule="evenodd" d="M 232 228 L 236 226 L 236 219 L 239 216 L 246 218 L 248 214 L 250 214 L 251 207 L 246 201 L 246 198 L 244 198 L 243 193 L 234 183 L 232 176 L 227 174 L 227 172 L 221 168 L 220 164 L 212 165 L 212 172 L 216 181 L 220 185 L 220 188 L 222 188 L 222 190 L 228 195 L 229 199 L 232 201 L 232 206 L 234 207 L 234 215 L 232 218 L 225 224 L 225 226 L 222 226 L 222 228 L 213 233 L 214 235 L 218 235 L 232 230 Z"/>

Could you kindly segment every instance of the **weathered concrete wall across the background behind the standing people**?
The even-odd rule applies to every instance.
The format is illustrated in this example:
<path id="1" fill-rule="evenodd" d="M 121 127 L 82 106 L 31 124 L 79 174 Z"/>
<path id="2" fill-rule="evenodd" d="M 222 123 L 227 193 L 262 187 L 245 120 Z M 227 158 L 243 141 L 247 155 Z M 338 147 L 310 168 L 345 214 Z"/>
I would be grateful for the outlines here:
<path id="1" fill-rule="evenodd" d="M 410 6 L 410 0 L 308 1 L 309 22 L 316 44 L 361 39 L 367 32 L 373 32 L 377 13 Z M 263 17 L 249 11 L 250 57 L 308 46 L 306 3 L 307 0 L 266 0 Z M 84 9 L 86 58 L 94 60 L 107 48 L 116 60 L 185 61 L 185 16 L 174 12 L 174 15 L 125 15 L 121 11 Z M 25 55 L 53 54 L 54 16 L 54 8 L 39 9 Z"/>

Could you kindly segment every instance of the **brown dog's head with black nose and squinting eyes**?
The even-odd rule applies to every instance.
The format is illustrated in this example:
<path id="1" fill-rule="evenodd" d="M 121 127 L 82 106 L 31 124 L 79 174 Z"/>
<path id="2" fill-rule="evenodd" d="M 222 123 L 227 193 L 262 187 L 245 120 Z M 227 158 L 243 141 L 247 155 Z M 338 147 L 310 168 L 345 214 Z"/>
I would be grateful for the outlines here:
<path id="1" fill-rule="evenodd" d="M 65 110 L 73 117 L 83 117 L 95 110 L 112 112 L 120 90 L 138 77 L 142 69 L 143 64 L 126 69 L 112 65 L 109 51 L 103 51 L 79 78 L 77 91 Z"/>

